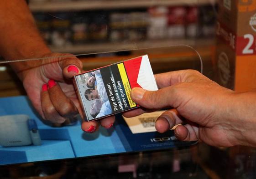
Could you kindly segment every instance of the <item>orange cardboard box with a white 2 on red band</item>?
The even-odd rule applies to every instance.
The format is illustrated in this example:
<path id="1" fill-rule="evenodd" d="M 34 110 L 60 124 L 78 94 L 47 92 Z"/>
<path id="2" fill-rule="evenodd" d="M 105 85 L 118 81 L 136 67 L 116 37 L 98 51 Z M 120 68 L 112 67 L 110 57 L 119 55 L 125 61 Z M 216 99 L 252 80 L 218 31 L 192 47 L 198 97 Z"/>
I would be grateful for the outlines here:
<path id="1" fill-rule="evenodd" d="M 237 92 L 256 89 L 256 0 L 219 0 L 218 82 Z"/>

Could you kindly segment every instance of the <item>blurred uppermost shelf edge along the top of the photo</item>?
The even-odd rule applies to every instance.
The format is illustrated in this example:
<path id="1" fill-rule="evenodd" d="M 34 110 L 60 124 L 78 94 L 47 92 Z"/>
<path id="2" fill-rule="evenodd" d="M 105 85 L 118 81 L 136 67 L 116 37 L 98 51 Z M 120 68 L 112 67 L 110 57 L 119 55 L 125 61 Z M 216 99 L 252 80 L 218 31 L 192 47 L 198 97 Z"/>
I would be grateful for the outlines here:
<path id="1" fill-rule="evenodd" d="M 152 6 L 207 5 L 215 0 L 78 0 L 37 2 L 31 1 L 32 11 L 67 11 L 67 10 L 109 10 L 128 8 L 147 8 Z"/>

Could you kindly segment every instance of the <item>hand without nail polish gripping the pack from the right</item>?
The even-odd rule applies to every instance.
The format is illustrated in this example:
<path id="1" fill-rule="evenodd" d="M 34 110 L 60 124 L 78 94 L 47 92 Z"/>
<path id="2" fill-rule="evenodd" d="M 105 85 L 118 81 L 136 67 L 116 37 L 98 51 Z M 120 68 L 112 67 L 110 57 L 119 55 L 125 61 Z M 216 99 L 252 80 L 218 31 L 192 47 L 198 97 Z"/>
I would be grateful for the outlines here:
<path id="1" fill-rule="evenodd" d="M 124 113 L 137 116 L 148 109 L 172 107 L 156 121 L 156 129 L 164 133 L 174 125 L 179 140 L 202 140 L 214 146 L 238 144 L 237 128 L 242 123 L 234 121 L 230 104 L 235 92 L 219 86 L 194 70 L 167 72 L 155 75 L 158 91 L 133 88 L 131 98 L 143 108 Z"/>

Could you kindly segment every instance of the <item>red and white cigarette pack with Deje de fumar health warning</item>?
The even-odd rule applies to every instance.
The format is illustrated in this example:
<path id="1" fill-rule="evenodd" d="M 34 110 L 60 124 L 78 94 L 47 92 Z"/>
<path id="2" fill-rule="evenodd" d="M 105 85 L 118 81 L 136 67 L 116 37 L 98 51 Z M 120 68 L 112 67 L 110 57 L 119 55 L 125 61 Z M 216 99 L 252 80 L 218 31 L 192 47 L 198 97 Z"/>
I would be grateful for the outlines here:
<path id="1" fill-rule="evenodd" d="M 158 89 L 147 55 L 78 74 L 73 82 L 86 121 L 138 107 L 131 100 L 133 87 Z"/>

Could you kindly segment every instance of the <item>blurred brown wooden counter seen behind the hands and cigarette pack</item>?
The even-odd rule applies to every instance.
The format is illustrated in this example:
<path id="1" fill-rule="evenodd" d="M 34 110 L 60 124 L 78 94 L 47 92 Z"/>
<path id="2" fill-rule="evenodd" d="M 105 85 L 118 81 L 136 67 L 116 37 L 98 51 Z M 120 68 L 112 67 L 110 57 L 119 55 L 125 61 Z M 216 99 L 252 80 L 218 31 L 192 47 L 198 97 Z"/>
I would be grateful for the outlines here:
<path id="1" fill-rule="evenodd" d="M 214 44 L 210 45 L 209 42 L 210 41 L 207 40 L 201 40 L 200 43 L 196 42 L 196 46 L 193 47 L 197 51 L 199 51 L 199 54 L 203 59 L 204 75 L 212 78 L 212 56 L 214 54 L 215 46 Z M 206 45 L 207 43 L 208 45 Z M 81 48 L 82 47 L 83 46 L 81 46 Z M 129 53 L 119 55 L 116 55 L 115 53 L 106 53 L 104 54 L 104 56 L 102 56 L 103 54 L 89 56 L 82 55 L 78 56 L 78 58 L 83 63 L 84 71 L 89 71 L 99 68 L 101 66 L 106 66 L 145 54 L 148 54 L 149 56 L 154 74 L 182 69 L 200 69 L 198 54 L 196 53 L 196 51 L 187 46 L 172 46 L 170 48 L 150 48 L 127 52 Z M 6 67 L 2 71 L 0 71 L 0 97 L 26 95 L 26 92 L 22 87 L 21 81 L 18 79 L 16 74 L 13 73 L 10 66 L 8 66 L 8 64 L 4 64 L 2 66 Z"/>

